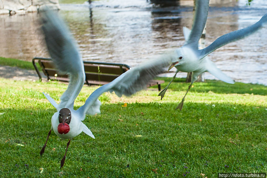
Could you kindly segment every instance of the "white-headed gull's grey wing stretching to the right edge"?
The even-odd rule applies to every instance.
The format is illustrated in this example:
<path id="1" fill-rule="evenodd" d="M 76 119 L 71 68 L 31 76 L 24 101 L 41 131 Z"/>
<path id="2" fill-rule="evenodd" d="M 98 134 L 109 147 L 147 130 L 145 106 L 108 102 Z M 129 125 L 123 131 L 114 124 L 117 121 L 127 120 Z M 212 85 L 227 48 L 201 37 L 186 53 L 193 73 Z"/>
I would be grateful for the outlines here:
<path id="1" fill-rule="evenodd" d="M 265 24 L 266 22 L 267 22 L 267 14 L 263 15 L 263 17 L 258 22 L 247 28 L 232 31 L 230 33 L 220 36 L 213 43 L 211 43 L 211 45 L 204 48 L 203 50 L 200 50 L 201 58 L 205 57 L 206 55 L 208 55 L 209 53 L 213 52 L 214 50 L 218 49 L 221 46 L 224 46 L 230 42 L 236 41 L 238 39 L 244 38 L 252 34 L 253 32 L 257 31 L 260 27 L 262 27 L 263 24 Z"/>

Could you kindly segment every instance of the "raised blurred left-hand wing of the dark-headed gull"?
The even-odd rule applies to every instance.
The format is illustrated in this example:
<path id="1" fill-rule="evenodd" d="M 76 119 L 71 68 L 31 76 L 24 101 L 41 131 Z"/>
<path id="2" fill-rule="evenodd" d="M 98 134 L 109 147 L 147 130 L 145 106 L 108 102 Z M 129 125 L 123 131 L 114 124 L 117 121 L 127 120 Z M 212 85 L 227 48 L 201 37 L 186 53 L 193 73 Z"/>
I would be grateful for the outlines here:
<path id="1" fill-rule="evenodd" d="M 58 13 L 48 7 L 41 12 L 42 31 L 53 63 L 69 75 L 69 85 L 61 96 L 59 107 L 73 107 L 85 81 L 83 61 L 75 40 Z"/>

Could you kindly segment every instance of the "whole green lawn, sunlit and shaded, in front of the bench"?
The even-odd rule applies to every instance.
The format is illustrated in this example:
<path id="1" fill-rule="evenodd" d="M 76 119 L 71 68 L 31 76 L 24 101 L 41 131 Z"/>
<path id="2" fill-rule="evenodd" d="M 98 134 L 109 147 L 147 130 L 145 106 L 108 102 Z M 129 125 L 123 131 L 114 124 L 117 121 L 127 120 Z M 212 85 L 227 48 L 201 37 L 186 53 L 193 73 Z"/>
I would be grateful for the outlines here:
<path id="1" fill-rule="evenodd" d="M 52 132 L 45 153 L 39 155 L 56 111 L 42 92 L 59 102 L 67 85 L 0 78 L 0 177 L 217 177 L 218 172 L 267 172 L 267 87 L 194 83 L 183 110 L 175 110 L 187 87 L 184 79 L 175 80 L 162 100 L 156 87 L 129 98 L 104 93 L 99 97 L 102 113 L 84 120 L 96 139 L 83 133 L 75 137 L 60 170 L 67 140 Z M 96 88 L 84 86 L 75 108 Z M 127 107 L 121 106 L 124 103 Z"/>

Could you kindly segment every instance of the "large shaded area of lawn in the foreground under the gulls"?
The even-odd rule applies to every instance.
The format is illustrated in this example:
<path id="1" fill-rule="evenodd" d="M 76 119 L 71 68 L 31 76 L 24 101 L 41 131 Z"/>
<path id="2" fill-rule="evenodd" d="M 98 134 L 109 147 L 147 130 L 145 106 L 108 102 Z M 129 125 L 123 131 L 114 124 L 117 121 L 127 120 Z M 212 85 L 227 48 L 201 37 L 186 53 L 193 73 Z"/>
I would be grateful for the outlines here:
<path id="1" fill-rule="evenodd" d="M 233 172 L 266 170 L 265 108 L 188 102 L 178 111 L 177 104 L 103 104 L 102 114 L 83 121 L 96 139 L 75 137 L 63 171 L 66 140 L 52 132 L 39 155 L 55 109 L 1 108 L 0 177 L 37 177 L 40 168 L 50 177 L 59 177 L 59 171 L 64 177 L 155 177 L 155 168 L 173 177 L 183 177 L 187 169 L 190 177 L 200 172 L 215 177 L 229 171 L 225 165 Z"/>

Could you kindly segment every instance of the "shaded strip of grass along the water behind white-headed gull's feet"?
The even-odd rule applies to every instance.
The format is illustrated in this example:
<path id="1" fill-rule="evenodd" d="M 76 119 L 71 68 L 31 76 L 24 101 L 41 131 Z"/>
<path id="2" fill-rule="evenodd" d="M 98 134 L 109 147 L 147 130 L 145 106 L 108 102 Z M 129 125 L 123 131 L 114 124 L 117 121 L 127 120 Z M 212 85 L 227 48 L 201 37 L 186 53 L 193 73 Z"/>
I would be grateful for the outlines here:
<path id="1" fill-rule="evenodd" d="M 158 80 L 164 80 L 165 83 L 161 84 L 162 89 L 168 85 L 171 78 L 159 77 Z M 169 86 L 171 90 L 184 90 L 186 91 L 190 83 L 185 82 L 185 78 L 176 78 Z M 267 86 L 259 84 L 246 84 L 236 82 L 235 84 L 228 84 L 219 80 L 205 80 L 205 82 L 194 82 L 194 87 L 190 92 L 206 93 L 212 91 L 214 93 L 238 93 L 238 94 L 255 94 L 267 95 Z"/>

